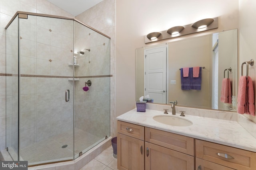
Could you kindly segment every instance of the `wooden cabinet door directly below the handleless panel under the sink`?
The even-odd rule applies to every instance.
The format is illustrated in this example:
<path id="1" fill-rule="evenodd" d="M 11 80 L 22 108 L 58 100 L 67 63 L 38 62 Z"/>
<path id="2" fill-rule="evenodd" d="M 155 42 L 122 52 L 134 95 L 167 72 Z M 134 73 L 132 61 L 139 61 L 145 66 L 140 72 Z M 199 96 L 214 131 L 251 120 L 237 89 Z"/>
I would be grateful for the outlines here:
<path id="1" fill-rule="evenodd" d="M 194 170 L 194 157 L 145 142 L 145 170 Z"/>

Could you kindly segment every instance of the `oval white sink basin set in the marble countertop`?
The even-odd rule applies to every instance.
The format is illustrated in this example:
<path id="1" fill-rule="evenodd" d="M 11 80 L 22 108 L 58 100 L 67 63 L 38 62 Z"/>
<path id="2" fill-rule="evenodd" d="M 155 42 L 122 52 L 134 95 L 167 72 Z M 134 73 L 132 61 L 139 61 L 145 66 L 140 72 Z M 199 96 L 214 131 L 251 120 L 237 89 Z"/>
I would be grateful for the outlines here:
<path id="1" fill-rule="evenodd" d="M 172 126 L 190 126 L 193 125 L 192 121 L 188 119 L 184 119 L 182 117 L 176 117 L 172 115 L 157 115 L 154 116 L 153 119 L 158 121 L 159 123 L 164 123 L 166 125 Z"/>

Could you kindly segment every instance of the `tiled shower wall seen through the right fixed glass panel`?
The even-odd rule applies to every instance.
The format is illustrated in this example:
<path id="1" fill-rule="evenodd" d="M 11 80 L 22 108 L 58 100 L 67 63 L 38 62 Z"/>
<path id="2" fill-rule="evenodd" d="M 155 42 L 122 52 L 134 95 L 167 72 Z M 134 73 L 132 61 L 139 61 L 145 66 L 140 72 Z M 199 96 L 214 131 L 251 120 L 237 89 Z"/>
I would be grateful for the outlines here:
<path id="1" fill-rule="evenodd" d="M 110 135 L 110 39 L 80 23 L 76 23 L 75 37 L 75 52 L 84 51 L 76 55 L 75 125 L 102 139 Z M 85 84 L 88 80 L 91 86 Z"/>

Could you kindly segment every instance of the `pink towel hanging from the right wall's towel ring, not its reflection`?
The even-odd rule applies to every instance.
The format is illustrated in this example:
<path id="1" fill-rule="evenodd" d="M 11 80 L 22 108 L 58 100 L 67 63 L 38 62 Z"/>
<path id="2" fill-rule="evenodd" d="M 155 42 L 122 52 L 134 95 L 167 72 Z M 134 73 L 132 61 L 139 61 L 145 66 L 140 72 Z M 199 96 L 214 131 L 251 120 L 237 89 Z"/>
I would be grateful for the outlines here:
<path id="1" fill-rule="evenodd" d="M 241 76 L 239 79 L 237 113 L 255 116 L 254 89 L 250 76 Z"/>

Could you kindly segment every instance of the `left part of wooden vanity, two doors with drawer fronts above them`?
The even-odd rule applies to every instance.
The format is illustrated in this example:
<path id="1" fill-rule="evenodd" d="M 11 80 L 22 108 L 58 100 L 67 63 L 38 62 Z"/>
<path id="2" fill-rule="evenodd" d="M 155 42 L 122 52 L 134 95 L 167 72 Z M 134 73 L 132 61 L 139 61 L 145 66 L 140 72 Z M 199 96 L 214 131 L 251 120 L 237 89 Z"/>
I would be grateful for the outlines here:
<path id="1" fill-rule="evenodd" d="M 118 170 L 194 170 L 193 138 L 123 121 L 117 131 Z"/>

